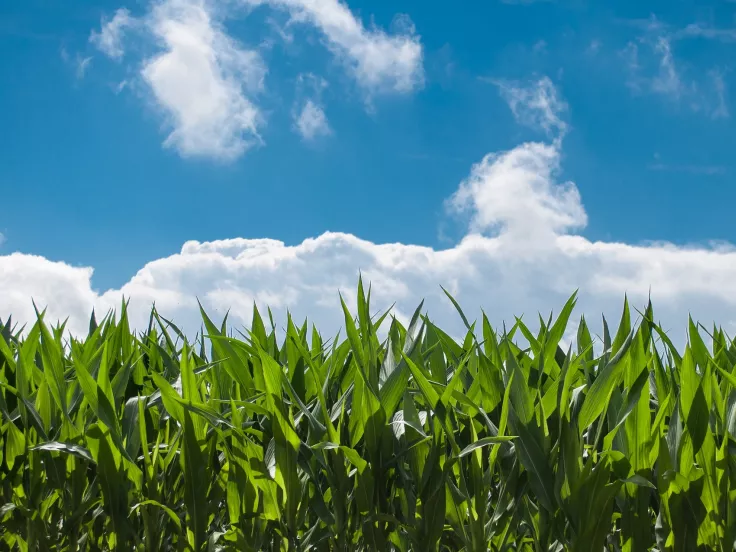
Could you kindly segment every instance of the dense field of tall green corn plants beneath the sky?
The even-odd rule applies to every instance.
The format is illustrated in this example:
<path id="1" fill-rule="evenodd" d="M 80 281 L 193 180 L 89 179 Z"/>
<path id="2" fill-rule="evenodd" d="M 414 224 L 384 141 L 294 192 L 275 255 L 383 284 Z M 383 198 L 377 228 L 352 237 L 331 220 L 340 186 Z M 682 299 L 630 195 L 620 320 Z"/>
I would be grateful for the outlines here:
<path id="1" fill-rule="evenodd" d="M 575 295 L 532 331 L 448 294 L 460 343 L 357 296 L 329 340 L 255 308 L 191 342 L 125 303 L 86 337 L 0 322 L 0 550 L 734 550 L 721 329 L 678 351 L 624 301 L 564 346 Z"/>

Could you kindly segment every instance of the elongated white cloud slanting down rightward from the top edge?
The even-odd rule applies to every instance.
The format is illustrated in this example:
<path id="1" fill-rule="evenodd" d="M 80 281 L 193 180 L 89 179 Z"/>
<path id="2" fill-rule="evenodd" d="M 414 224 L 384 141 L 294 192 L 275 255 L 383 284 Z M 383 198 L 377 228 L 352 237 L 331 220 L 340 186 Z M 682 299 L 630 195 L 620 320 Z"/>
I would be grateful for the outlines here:
<path id="1" fill-rule="evenodd" d="M 400 28 L 388 34 L 379 28 L 366 29 L 339 0 L 242 1 L 284 8 L 293 22 L 316 27 L 369 94 L 410 92 L 424 84 L 422 44 L 407 17 L 399 17 Z"/>

